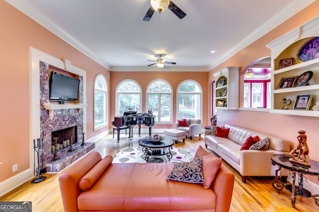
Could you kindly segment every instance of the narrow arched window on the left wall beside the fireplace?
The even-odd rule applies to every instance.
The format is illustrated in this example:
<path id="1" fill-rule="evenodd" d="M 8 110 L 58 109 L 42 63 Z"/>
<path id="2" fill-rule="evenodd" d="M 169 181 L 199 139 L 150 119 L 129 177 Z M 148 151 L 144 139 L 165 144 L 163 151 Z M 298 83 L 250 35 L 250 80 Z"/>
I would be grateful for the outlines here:
<path id="1" fill-rule="evenodd" d="M 107 125 L 107 84 L 104 76 L 99 74 L 94 82 L 94 130 Z"/>

